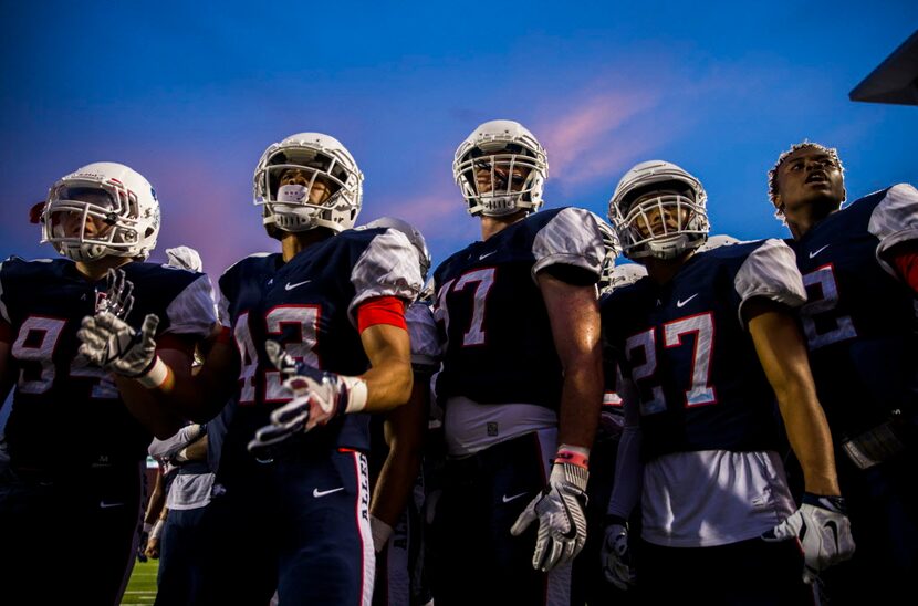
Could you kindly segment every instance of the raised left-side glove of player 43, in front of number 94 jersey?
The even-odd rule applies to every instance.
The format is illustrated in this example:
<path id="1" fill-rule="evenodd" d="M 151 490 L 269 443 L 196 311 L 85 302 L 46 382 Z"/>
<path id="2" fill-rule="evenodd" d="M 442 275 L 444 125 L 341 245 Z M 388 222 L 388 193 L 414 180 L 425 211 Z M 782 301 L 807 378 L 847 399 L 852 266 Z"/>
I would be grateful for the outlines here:
<path id="1" fill-rule="evenodd" d="M 79 351 L 106 370 L 137 378 L 146 375 L 157 359 L 153 335 L 158 325 L 156 314 L 147 314 L 139 331 L 109 312 L 88 315 L 76 333 L 83 342 Z"/>

